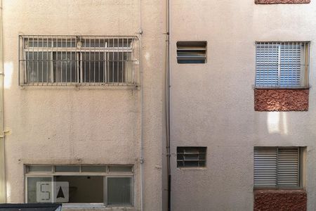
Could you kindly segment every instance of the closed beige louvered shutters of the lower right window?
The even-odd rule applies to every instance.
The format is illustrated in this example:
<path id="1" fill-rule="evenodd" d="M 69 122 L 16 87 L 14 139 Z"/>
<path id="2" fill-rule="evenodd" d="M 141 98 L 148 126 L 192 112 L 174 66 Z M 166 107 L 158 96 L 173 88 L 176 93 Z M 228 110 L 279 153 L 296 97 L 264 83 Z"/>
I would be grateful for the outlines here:
<path id="1" fill-rule="evenodd" d="M 300 147 L 254 148 L 254 187 L 299 188 Z"/>

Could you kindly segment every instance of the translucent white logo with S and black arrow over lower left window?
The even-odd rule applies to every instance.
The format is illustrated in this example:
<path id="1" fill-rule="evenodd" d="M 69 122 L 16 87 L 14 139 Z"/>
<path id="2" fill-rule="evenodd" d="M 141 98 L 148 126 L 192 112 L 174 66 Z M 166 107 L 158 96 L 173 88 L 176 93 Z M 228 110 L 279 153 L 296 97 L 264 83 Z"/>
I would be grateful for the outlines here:
<path id="1" fill-rule="evenodd" d="M 67 203 L 69 201 L 69 183 L 67 181 L 38 181 L 38 203 Z"/>

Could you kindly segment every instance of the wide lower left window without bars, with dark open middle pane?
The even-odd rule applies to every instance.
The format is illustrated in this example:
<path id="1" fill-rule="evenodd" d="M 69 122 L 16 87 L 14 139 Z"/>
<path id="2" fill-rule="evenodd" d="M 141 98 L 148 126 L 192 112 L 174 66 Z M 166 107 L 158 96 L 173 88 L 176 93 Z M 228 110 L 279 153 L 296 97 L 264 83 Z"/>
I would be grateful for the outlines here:
<path id="1" fill-rule="evenodd" d="M 133 167 L 26 165 L 26 203 L 133 205 Z"/>

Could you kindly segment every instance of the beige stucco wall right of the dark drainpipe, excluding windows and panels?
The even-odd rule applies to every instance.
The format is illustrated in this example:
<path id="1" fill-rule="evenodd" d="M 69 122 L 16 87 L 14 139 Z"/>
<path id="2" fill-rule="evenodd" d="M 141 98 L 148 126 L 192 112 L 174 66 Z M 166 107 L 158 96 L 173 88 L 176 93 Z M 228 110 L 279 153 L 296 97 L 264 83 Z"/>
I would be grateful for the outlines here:
<path id="1" fill-rule="evenodd" d="M 254 146 L 308 146 L 315 203 L 316 2 L 171 1 L 171 210 L 252 210 Z M 176 41 L 207 41 L 207 63 L 176 63 Z M 254 111 L 255 41 L 311 41 L 308 112 Z M 207 167 L 180 170 L 176 146 L 207 146 Z"/>

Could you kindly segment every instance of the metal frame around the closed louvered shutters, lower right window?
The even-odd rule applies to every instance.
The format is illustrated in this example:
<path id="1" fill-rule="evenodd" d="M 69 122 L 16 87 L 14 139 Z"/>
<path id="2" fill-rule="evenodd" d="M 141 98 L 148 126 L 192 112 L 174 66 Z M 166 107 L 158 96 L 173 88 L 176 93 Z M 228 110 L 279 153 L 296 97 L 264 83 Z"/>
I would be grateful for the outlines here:
<path id="1" fill-rule="evenodd" d="M 256 186 L 253 181 L 254 190 L 260 190 L 260 189 L 275 189 L 275 190 L 299 190 L 304 188 L 304 165 L 305 165 L 305 159 L 304 159 L 304 153 L 305 153 L 305 147 L 303 146 L 254 146 L 254 153 L 256 149 L 262 149 L 262 148 L 275 148 L 277 151 L 277 164 L 276 164 L 276 172 L 279 168 L 278 166 L 278 156 L 279 156 L 279 148 L 298 148 L 298 185 L 297 186 L 282 186 L 279 185 L 278 176 L 276 173 L 276 186 Z M 254 156 L 255 160 L 255 156 Z M 254 171 L 255 173 L 255 162 L 253 163 Z"/>

